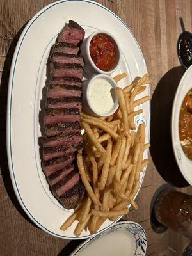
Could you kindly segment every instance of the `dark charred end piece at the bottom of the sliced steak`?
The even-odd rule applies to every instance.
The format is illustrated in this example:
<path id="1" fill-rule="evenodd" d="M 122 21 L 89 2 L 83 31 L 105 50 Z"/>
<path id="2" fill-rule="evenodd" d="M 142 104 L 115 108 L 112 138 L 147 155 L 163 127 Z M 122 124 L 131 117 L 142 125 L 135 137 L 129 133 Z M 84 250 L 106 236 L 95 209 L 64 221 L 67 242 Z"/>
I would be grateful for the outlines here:
<path id="1" fill-rule="evenodd" d="M 79 202 L 84 197 L 85 188 L 81 180 L 77 182 L 76 186 L 61 195 L 59 201 L 66 209 L 76 208 Z"/>

